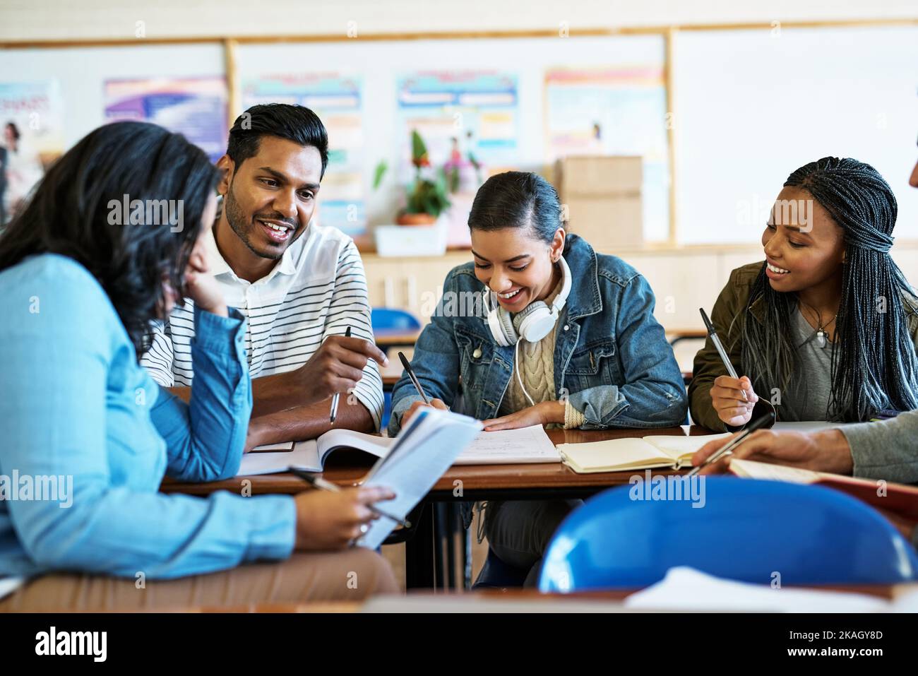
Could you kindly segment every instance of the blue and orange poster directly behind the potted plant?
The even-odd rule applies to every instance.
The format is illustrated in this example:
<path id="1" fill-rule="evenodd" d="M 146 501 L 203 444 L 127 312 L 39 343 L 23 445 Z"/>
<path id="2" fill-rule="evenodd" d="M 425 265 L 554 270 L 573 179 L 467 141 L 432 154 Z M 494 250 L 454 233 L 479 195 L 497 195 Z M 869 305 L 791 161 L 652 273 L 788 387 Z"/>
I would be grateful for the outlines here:
<path id="1" fill-rule="evenodd" d="M 468 212 L 488 175 L 519 163 L 519 84 L 516 74 L 438 71 L 403 75 L 397 81 L 398 176 L 409 185 L 411 132 L 427 146 L 431 172 L 448 168 L 452 208 L 446 214 L 448 243 L 467 246 Z"/>

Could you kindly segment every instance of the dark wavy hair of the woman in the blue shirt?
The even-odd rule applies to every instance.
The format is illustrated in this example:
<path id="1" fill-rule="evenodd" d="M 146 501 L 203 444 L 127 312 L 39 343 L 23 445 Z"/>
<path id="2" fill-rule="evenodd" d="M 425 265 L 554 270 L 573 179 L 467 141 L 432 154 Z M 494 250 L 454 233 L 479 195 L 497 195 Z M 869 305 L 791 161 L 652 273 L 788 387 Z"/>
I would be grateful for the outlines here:
<path id="1" fill-rule="evenodd" d="M 28 205 L 0 235 L 0 270 L 33 254 L 61 254 L 98 280 L 140 355 L 162 308 L 162 276 L 183 287 L 218 170 L 197 146 L 147 122 L 91 131 L 41 179 Z M 119 224 L 110 201 L 182 206 L 182 227 Z M 113 222 L 115 221 L 115 222 Z"/>

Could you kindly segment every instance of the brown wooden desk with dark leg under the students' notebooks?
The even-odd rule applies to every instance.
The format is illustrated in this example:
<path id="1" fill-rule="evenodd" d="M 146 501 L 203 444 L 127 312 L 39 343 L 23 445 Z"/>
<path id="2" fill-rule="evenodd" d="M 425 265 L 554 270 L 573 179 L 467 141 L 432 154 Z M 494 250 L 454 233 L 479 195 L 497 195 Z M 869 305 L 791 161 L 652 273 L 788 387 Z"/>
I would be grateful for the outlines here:
<path id="1" fill-rule="evenodd" d="M 647 434 L 685 434 L 681 427 L 668 427 L 655 430 L 547 430 L 554 444 L 582 444 L 603 439 L 620 439 L 628 436 L 645 436 Z M 713 434 L 710 430 L 692 425 L 689 434 Z M 364 454 L 336 452 L 326 464 L 323 477 L 339 486 L 353 486 L 371 466 L 371 460 Z M 668 475 L 672 470 L 653 470 L 653 473 Z M 549 499 L 586 499 L 601 490 L 628 483 L 635 474 L 634 470 L 626 472 L 599 472 L 596 474 L 577 474 L 566 465 L 548 463 L 532 465 L 460 465 L 448 469 L 434 484 L 424 501 L 412 513 L 414 533 L 406 541 L 406 582 L 409 589 L 443 587 L 449 579 L 453 586 L 453 576 L 442 572 L 442 532 L 449 533 L 448 525 L 444 527 L 442 513 L 437 513 L 438 503 L 457 503 L 479 500 L 549 500 Z M 293 494 L 308 490 L 302 479 L 292 474 L 270 474 L 258 477 L 236 477 L 225 481 L 209 483 L 181 483 L 165 479 L 161 490 L 166 493 L 180 492 L 189 495 L 209 495 L 215 490 L 229 490 L 239 493 L 243 481 L 250 483 L 246 487 L 252 495 L 263 493 Z M 456 483 L 456 482 L 461 483 Z M 456 495 L 457 487 L 462 494 Z M 438 523 L 439 522 L 439 523 Z M 452 544 L 452 538 L 449 544 Z M 453 549 L 447 546 L 446 559 L 452 560 Z M 452 568 L 450 569 L 452 572 Z M 438 579 L 439 578 L 439 579 Z M 439 584 L 438 584 L 439 582 Z"/>

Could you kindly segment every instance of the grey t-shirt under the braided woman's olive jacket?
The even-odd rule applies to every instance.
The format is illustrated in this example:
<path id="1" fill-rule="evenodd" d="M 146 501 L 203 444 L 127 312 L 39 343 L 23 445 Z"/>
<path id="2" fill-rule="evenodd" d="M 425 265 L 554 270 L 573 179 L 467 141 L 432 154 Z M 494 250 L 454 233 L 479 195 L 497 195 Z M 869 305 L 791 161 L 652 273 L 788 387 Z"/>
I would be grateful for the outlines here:
<path id="1" fill-rule="evenodd" d="M 782 392 L 778 420 L 828 420 L 832 395 L 832 353 L 835 345 L 820 346 L 816 330 L 798 309 L 794 312 L 794 338 L 797 345 L 798 373 L 788 392 Z"/>

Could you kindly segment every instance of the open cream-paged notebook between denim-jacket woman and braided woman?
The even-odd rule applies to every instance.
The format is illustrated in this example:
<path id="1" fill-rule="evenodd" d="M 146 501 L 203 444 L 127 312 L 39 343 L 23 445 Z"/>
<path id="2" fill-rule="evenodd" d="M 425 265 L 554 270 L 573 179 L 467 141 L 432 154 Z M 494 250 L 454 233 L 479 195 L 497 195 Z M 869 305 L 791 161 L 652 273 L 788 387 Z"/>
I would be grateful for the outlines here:
<path id="1" fill-rule="evenodd" d="M 559 444 L 562 458 L 578 474 L 625 472 L 631 469 L 673 468 L 691 465 L 691 456 L 713 439 L 730 434 L 700 436 L 645 436 Z"/>

